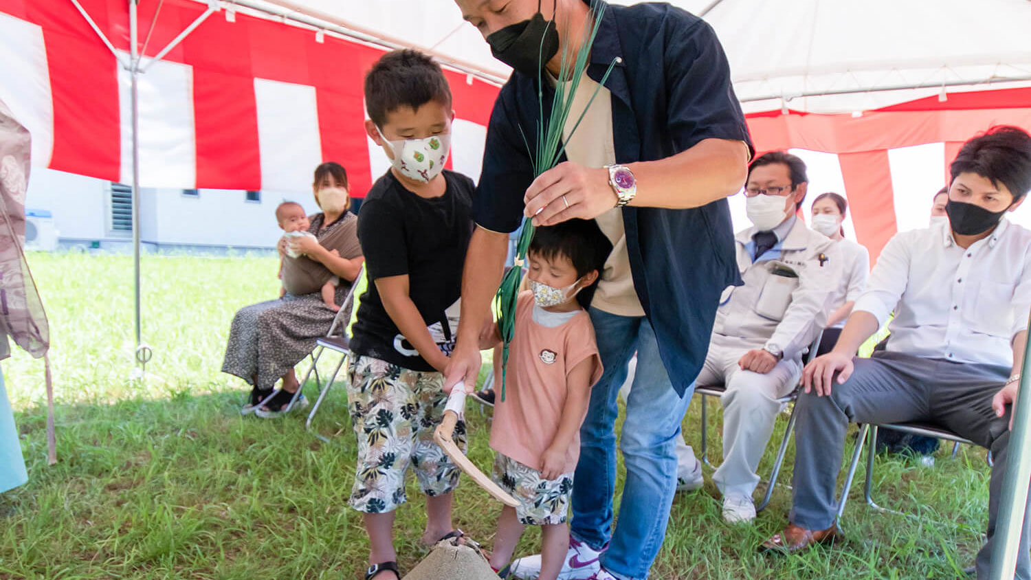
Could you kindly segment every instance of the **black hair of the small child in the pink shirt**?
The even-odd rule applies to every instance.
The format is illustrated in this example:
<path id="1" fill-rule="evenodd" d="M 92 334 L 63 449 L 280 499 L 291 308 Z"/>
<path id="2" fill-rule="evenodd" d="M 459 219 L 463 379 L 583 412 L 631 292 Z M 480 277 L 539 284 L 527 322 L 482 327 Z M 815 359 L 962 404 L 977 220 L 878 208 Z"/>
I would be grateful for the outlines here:
<path id="1" fill-rule="evenodd" d="M 535 253 L 544 260 L 564 255 L 573 263 L 576 277 L 583 278 L 597 270 L 598 278 L 605 270 L 605 261 L 612 252 L 612 243 L 598 228 L 594 219 L 568 219 L 555 226 L 537 228 L 530 241 L 528 253 Z M 584 308 L 591 306 L 598 280 L 576 295 L 576 301 Z"/>

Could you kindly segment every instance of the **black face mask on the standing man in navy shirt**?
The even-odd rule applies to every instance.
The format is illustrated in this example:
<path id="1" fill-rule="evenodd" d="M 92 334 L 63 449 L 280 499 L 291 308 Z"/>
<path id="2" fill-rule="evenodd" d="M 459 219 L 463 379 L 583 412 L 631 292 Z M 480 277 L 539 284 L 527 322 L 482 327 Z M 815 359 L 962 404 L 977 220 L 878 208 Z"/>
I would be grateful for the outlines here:
<path id="1" fill-rule="evenodd" d="M 556 0 L 556 4 L 558 1 Z M 555 21 L 537 13 L 528 21 L 508 25 L 487 37 L 494 58 L 531 77 L 537 76 L 559 52 L 559 31 Z"/>

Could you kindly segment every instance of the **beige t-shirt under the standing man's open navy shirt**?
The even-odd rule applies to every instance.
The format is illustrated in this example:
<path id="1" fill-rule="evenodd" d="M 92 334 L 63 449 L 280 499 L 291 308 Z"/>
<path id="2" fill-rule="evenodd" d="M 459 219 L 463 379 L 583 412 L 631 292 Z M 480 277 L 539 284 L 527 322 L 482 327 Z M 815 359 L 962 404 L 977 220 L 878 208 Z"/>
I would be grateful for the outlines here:
<path id="1" fill-rule="evenodd" d="M 565 83 L 567 87 L 569 82 Z M 587 109 L 587 114 L 576 126 L 580 113 L 587 108 L 591 97 L 597 97 Z M 570 138 L 573 127 L 575 133 Z M 580 78 L 573 97 L 572 110 L 562 131 L 569 161 L 590 168 L 605 167 L 616 163 L 616 147 L 612 140 L 612 95 L 600 87 L 587 74 Z M 613 199 L 616 194 L 608 192 Z M 591 306 L 620 316 L 643 316 L 644 309 L 634 291 L 634 280 L 630 274 L 630 257 L 627 253 L 627 235 L 623 229 L 622 209 L 613 207 L 596 218 L 608 241 L 612 242 L 612 253 L 605 261 L 605 271 L 601 273 L 598 289 Z"/>

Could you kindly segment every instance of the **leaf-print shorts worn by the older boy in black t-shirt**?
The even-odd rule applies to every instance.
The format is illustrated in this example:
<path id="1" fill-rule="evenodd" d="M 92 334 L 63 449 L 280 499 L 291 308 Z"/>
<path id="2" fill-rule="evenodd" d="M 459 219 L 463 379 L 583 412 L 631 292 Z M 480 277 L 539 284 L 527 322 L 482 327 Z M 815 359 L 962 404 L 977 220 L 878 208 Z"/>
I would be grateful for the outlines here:
<path id="1" fill-rule="evenodd" d="M 351 506 L 383 513 L 405 502 L 404 477 L 411 466 L 427 496 L 458 487 L 461 470 L 433 441 L 447 396 L 443 375 L 410 371 L 371 356 L 347 365 L 347 402 L 358 436 L 358 469 Z M 455 428 L 455 442 L 466 451 L 465 422 Z"/>

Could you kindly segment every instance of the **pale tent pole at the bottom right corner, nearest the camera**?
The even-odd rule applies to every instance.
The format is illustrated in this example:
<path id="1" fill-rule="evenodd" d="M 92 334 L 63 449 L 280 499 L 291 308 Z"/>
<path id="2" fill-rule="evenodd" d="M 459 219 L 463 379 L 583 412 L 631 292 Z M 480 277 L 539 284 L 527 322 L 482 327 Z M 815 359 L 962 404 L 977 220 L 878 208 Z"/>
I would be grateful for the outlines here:
<path id="1" fill-rule="evenodd" d="M 1002 480 L 1002 497 L 995 523 L 995 544 L 992 546 L 990 580 L 1013 578 L 1017 556 L 1021 551 L 1021 530 L 1027 505 L 1028 484 L 1031 483 L 1031 341 L 1024 347 L 1020 386 L 1013 403 L 1013 430 L 1006 447 L 1006 475 Z M 1028 531 L 1031 533 L 1031 530 Z"/>

